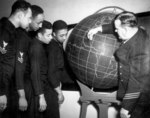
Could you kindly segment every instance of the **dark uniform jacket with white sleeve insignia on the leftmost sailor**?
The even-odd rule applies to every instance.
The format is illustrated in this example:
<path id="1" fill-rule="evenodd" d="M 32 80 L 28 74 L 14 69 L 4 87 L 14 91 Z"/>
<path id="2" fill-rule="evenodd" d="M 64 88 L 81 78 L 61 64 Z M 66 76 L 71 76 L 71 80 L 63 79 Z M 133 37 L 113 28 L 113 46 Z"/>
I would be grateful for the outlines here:
<path id="1" fill-rule="evenodd" d="M 6 95 L 15 68 L 16 29 L 7 19 L 0 20 L 0 95 Z"/>

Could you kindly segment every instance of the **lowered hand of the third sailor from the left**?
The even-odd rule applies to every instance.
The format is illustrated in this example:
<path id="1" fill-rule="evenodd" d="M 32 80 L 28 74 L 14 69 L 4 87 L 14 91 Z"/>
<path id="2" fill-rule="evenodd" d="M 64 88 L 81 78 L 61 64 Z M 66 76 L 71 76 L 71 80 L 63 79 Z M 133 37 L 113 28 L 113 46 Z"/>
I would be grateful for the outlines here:
<path id="1" fill-rule="evenodd" d="M 43 112 L 46 110 L 47 104 L 46 104 L 46 100 L 44 95 L 40 95 L 40 99 L 39 99 L 39 111 Z"/>

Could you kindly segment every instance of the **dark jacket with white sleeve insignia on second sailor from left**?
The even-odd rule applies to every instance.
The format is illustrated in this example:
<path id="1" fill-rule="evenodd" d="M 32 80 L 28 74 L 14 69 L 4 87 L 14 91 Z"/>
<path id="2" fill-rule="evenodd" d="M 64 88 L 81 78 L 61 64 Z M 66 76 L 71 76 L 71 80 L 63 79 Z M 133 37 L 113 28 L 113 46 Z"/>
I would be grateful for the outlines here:
<path id="1" fill-rule="evenodd" d="M 17 50 L 16 50 L 16 87 L 18 89 L 24 89 L 25 79 L 30 79 L 26 74 L 30 74 L 29 69 L 29 48 L 31 38 L 28 33 L 21 28 L 17 29 Z M 26 77 L 25 77 L 26 76 Z"/>

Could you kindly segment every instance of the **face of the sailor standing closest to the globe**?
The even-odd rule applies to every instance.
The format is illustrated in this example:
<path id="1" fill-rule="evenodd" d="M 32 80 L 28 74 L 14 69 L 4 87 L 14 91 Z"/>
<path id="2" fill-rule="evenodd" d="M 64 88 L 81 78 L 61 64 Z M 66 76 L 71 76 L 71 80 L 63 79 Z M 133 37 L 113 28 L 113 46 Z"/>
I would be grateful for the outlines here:
<path id="1" fill-rule="evenodd" d="M 61 29 L 54 32 L 54 36 L 60 43 L 63 43 L 67 39 L 67 33 L 68 29 Z"/>

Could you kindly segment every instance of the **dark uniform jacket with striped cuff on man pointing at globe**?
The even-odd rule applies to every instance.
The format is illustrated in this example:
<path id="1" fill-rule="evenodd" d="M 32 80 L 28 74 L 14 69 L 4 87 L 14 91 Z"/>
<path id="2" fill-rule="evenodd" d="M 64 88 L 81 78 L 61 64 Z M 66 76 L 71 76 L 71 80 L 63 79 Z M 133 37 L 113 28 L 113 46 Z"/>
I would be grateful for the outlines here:
<path id="1" fill-rule="evenodd" d="M 141 94 L 150 94 L 150 39 L 143 29 L 123 44 L 116 55 L 120 62 L 118 97 L 130 112 Z"/>

